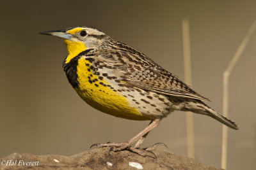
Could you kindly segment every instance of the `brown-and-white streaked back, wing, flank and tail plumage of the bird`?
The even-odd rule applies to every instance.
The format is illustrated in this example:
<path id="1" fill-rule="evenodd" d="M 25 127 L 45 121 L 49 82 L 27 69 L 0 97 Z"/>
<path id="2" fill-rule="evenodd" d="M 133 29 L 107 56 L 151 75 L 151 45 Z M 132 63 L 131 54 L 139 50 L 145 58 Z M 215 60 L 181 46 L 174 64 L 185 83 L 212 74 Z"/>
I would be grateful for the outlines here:
<path id="1" fill-rule="evenodd" d="M 143 53 L 109 36 L 102 42 L 98 48 L 83 53 L 92 63 L 93 74 L 108 80 L 111 89 L 126 97 L 143 116 L 154 120 L 174 110 L 193 111 L 232 124 L 202 102 L 209 99 Z"/>

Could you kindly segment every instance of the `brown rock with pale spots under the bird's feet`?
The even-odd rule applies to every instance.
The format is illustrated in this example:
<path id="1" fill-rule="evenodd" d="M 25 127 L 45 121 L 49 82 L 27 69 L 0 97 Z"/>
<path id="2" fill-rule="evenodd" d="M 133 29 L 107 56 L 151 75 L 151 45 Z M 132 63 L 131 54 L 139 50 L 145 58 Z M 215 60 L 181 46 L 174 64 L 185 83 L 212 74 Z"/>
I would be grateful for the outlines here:
<path id="1" fill-rule="evenodd" d="M 195 159 L 167 150 L 156 150 L 157 159 L 136 153 L 113 152 L 109 148 L 95 148 L 70 157 L 62 155 L 32 155 L 12 153 L 2 159 L 0 169 L 214 169 Z M 15 162 L 16 161 L 16 162 Z"/>

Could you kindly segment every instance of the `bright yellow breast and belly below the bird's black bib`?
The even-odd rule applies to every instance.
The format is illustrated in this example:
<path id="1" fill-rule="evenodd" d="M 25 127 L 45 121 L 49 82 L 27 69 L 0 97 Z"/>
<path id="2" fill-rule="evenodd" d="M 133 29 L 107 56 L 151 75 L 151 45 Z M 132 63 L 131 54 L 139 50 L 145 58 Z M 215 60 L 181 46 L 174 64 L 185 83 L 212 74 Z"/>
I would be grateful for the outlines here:
<path id="1" fill-rule="evenodd" d="M 99 80 L 90 69 L 90 62 L 84 57 L 78 60 L 77 80 L 79 87 L 75 88 L 77 94 L 93 108 L 115 117 L 131 120 L 148 120 L 140 111 L 129 106 L 127 99 L 109 88 L 106 80 Z"/>

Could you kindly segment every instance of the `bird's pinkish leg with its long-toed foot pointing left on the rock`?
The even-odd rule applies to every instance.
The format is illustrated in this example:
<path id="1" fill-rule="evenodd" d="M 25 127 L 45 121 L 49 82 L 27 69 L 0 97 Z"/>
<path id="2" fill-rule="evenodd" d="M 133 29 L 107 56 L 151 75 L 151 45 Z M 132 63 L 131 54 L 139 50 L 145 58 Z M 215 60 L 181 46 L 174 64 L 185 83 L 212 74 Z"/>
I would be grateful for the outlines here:
<path id="1" fill-rule="evenodd" d="M 125 142 L 125 143 L 106 143 L 106 144 L 93 144 L 92 146 L 97 146 L 98 148 L 101 147 L 112 147 L 111 150 L 113 151 L 120 151 L 120 150 L 124 150 L 124 149 L 128 149 L 131 148 L 131 145 L 136 142 L 138 139 L 142 138 L 145 134 L 147 134 L 149 131 L 151 131 L 152 129 L 154 129 L 155 127 L 157 127 L 157 125 L 159 125 L 161 119 L 157 118 L 155 120 L 152 120 L 152 122 L 150 122 L 150 124 L 143 129 L 143 131 L 141 131 L 139 134 L 137 134 L 136 136 L 134 136 L 132 139 L 130 139 L 129 141 Z M 145 135 L 147 136 L 147 135 Z M 145 139 L 145 136 L 143 139 L 140 140 L 140 143 L 142 143 L 142 141 Z M 91 147 L 92 147 L 91 146 Z M 131 150 L 132 152 L 136 152 L 136 150 Z M 136 152 L 139 155 L 143 155 L 143 153 L 139 153 Z"/>

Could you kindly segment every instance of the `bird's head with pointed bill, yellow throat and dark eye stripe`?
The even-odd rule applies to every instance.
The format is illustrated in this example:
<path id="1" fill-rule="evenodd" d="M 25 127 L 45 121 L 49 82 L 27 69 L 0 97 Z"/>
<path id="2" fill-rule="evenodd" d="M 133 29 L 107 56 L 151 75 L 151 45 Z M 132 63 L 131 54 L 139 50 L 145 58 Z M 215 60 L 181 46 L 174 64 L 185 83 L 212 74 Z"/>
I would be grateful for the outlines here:
<path id="1" fill-rule="evenodd" d="M 66 63 L 88 48 L 97 48 L 102 44 L 104 38 L 106 38 L 104 32 L 91 27 L 72 27 L 58 31 L 40 32 L 40 34 L 65 39 L 68 50 Z"/>

